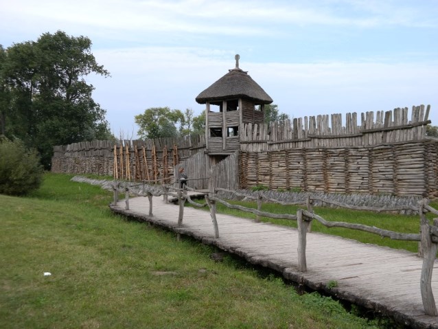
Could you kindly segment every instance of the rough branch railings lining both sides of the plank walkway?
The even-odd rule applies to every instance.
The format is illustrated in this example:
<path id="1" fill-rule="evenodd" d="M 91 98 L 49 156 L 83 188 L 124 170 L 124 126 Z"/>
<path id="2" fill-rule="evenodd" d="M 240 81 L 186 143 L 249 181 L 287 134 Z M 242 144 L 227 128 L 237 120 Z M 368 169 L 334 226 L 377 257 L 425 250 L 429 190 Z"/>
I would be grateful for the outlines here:
<path id="1" fill-rule="evenodd" d="M 141 186 L 141 192 L 134 189 L 134 187 Z M 121 183 L 117 183 L 114 185 L 114 204 L 118 201 L 118 192 L 121 188 Z M 163 195 L 163 200 L 167 203 L 168 195 L 176 196 L 178 198 L 179 203 L 179 213 L 178 213 L 178 226 L 183 224 L 183 216 L 184 216 L 184 203 L 188 201 L 191 205 L 195 207 L 205 207 L 208 205 L 210 209 L 211 220 L 213 221 L 214 227 L 214 236 L 215 238 L 219 238 L 219 229 L 218 222 L 216 220 L 216 203 L 221 203 L 225 207 L 231 209 L 238 209 L 243 212 L 249 212 L 256 215 L 256 220 L 260 220 L 260 216 L 268 217 L 268 218 L 276 218 L 276 219 L 288 219 L 288 220 L 297 220 L 298 227 L 298 271 L 306 272 L 307 271 L 307 260 L 306 260 L 306 236 L 308 232 L 311 230 L 312 220 L 317 220 L 319 223 L 324 225 L 325 227 L 344 227 L 347 229 L 357 229 L 360 231 L 367 231 L 372 234 L 377 234 L 382 237 L 391 238 L 393 240 L 409 240 L 409 241 L 419 241 L 419 256 L 423 258 L 423 266 L 422 266 L 422 275 L 420 279 L 420 290 L 422 294 L 422 301 L 424 306 L 424 311 L 426 315 L 438 316 L 437 306 L 435 304 L 435 298 L 433 296 L 431 280 L 433 273 L 433 265 L 435 263 L 435 258 L 438 251 L 438 218 L 433 220 L 433 225 L 430 225 L 427 218 L 426 213 L 431 212 L 433 214 L 438 215 L 438 210 L 430 207 L 428 205 L 427 199 L 423 199 L 417 207 L 412 205 L 401 206 L 401 207 L 356 207 L 347 205 L 344 203 L 339 203 L 336 201 L 330 201 L 325 198 L 318 198 L 315 196 L 308 196 L 306 201 L 297 201 L 293 203 L 288 203 L 284 201 L 278 201 L 273 198 L 268 198 L 264 196 L 262 192 L 259 192 L 257 196 L 253 196 L 250 194 L 242 194 L 235 192 L 233 190 L 226 190 L 223 188 L 215 188 L 214 190 L 209 191 L 208 194 L 205 194 L 205 204 L 200 204 L 192 201 L 187 190 L 196 191 L 191 188 L 180 189 L 175 188 L 173 185 L 146 185 L 145 183 L 132 185 L 125 183 L 125 202 L 126 209 L 129 209 L 129 194 L 148 196 L 149 199 L 149 215 L 152 214 L 152 196 L 161 196 Z M 246 198 L 253 199 L 257 202 L 257 209 L 244 207 L 242 205 L 233 205 L 227 201 L 222 200 L 218 197 L 217 192 L 227 192 L 231 193 L 235 196 L 244 196 Z M 297 214 L 273 214 L 270 212 L 263 212 L 262 203 L 263 201 L 267 201 L 269 203 L 277 203 L 279 205 L 306 205 L 306 209 L 299 208 L 297 209 Z M 338 207 L 343 207 L 347 209 L 355 209 L 355 210 L 367 210 L 373 212 L 394 212 L 401 210 L 411 210 L 418 212 L 420 217 L 420 233 L 400 233 L 395 231 L 389 231 L 386 229 L 380 229 L 378 227 L 371 227 L 368 225 L 356 224 L 356 223 L 346 223 L 346 222 L 337 222 L 337 221 L 329 221 L 325 220 L 323 217 L 314 213 L 313 210 L 313 202 L 314 201 L 322 201 L 323 203 L 336 205 Z"/>

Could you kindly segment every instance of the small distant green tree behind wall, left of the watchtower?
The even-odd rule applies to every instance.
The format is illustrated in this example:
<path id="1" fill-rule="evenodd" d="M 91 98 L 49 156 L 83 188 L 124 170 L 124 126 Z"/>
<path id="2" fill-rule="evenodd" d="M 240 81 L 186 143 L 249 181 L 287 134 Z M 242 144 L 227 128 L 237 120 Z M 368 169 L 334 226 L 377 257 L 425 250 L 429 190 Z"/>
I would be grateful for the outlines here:
<path id="1" fill-rule="evenodd" d="M 139 126 L 137 134 L 143 139 L 176 137 L 181 134 L 184 120 L 180 110 L 171 110 L 168 106 L 151 107 L 143 114 L 135 115 L 135 123 Z"/>

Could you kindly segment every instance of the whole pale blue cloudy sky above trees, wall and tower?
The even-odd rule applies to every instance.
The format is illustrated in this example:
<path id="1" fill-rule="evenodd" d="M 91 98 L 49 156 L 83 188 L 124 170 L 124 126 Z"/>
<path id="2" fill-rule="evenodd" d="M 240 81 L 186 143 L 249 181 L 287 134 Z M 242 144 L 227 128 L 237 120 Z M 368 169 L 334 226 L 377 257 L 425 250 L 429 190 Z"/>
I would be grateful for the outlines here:
<path id="1" fill-rule="evenodd" d="M 430 104 L 438 125 L 437 17 L 438 0 L 0 0 L 0 44 L 90 38 L 111 77 L 86 80 L 126 139 L 148 108 L 200 114 L 235 54 L 291 118 Z"/>

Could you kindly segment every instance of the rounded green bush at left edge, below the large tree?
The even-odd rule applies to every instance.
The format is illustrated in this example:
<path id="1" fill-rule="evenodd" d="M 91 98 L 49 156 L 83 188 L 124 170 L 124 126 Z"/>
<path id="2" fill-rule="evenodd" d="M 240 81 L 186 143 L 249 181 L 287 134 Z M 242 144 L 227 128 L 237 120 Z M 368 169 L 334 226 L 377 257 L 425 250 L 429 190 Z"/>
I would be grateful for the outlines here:
<path id="1" fill-rule="evenodd" d="M 43 179 L 43 167 L 36 151 L 22 141 L 0 137 L 0 194 L 24 195 L 36 190 Z"/>

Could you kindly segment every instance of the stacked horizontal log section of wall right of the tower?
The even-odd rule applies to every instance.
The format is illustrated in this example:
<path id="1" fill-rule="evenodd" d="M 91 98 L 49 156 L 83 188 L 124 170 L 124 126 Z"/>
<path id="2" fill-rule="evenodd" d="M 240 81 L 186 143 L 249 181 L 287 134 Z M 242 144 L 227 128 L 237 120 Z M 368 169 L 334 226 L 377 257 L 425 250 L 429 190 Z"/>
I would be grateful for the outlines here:
<path id="1" fill-rule="evenodd" d="M 241 188 L 437 198 L 438 141 L 240 152 Z"/>

